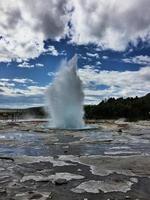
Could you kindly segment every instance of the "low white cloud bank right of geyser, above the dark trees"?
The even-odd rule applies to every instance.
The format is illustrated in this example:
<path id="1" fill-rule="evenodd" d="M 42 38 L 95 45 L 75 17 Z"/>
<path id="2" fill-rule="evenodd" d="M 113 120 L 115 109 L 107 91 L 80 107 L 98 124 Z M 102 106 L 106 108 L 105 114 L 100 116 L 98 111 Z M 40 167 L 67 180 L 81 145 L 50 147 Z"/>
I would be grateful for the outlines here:
<path id="1" fill-rule="evenodd" d="M 85 86 L 85 103 L 98 103 L 109 97 L 143 96 L 150 89 L 150 67 L 143 67 L 139 71 L 119 72 L 99 71 L 92 66 L 85 66 L 78 72 Z M 101 85 L 106 88 L 97 89 Z"/>

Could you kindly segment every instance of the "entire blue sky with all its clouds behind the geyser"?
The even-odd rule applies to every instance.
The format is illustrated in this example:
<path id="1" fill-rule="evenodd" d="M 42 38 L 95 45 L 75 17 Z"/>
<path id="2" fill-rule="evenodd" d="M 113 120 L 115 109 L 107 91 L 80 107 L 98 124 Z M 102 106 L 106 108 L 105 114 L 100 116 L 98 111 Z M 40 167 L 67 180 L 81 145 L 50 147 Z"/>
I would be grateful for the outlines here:
<path id="1" fill-rule="evenodd" d="M 0 107 L 41 106 L 78 56 L 85 104 L 150 92 L 150 1 L 2 0 Z"/>

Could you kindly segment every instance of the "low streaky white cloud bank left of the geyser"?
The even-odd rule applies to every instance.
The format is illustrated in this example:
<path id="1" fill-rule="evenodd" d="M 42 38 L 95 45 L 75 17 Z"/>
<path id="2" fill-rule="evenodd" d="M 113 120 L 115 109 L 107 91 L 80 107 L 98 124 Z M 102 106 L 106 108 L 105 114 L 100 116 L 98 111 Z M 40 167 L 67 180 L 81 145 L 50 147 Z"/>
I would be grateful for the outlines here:
<path id="1" fill-rule="evenodd" d="M 0 79 L 0 107 L 43 106 L 46 89 L 32 79 Z"/>

